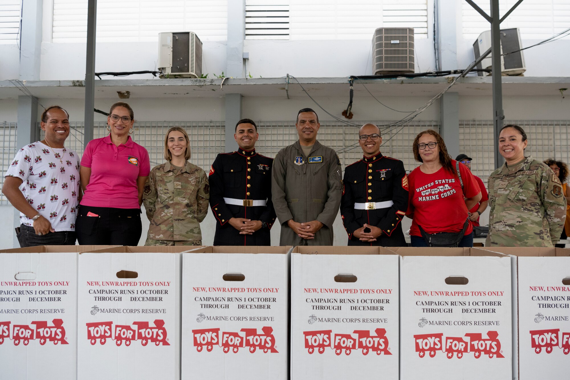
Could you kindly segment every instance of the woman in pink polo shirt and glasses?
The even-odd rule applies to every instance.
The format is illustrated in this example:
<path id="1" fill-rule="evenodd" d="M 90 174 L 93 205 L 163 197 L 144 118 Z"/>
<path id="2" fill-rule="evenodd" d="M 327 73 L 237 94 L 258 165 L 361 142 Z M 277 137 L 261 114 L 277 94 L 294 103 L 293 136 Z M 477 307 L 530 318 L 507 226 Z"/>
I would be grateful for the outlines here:
<path id="1" fill-rule="evenodd" d="M 111 106 L 109 135 L 89 141 L 79 174 L 84 192 L 77 215 L 79 244 L 136 246 L 142 232 L 141 200 L 150 161 L 134 142 L 134 113 L 122 101 Z"/>

